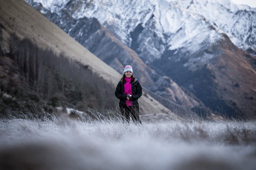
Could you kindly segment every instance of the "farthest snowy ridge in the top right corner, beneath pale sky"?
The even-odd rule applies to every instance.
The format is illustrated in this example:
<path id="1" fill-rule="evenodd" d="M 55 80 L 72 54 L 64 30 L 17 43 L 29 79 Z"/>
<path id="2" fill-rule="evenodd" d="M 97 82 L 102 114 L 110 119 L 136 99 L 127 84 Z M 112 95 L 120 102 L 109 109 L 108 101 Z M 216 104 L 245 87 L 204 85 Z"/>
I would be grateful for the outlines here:
<path id="1" fill-rule="evenodd" d="M 192 13 L 201 14 L 219 32 L 243 50 L 256 50 L 256 8 L 237 5 L 230 0 L 179 1 Z"/>

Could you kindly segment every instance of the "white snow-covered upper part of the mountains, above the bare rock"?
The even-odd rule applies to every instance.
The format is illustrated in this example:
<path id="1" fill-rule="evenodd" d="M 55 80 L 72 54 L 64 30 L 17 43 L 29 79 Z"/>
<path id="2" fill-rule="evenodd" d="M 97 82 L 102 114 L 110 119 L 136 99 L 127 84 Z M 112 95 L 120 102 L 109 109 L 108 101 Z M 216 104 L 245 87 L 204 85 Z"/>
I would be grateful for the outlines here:
<path id="1" fill-rule="evenodd" d="M 67 11 L 73 18 L 97 18 L 128 46 L 136 27 L 151 30 L 154 34 L 138 37 L 150 50 L 139 47 L 146 61 L 160 58 L 166 47 L 178 49 L 184 43 L 201 43 L 205 38 L 214 42 L 225 33 L 232 42 L 247 50 L 256 49 L 256 9 L 236 5 L 230 0 L 34 0 L 51 12 Z M 151 24 L 150 24 L 151 23 Z M 150 26 L 150 27 L 149 27 Z M 216 29 L 212 31 L 212 29 Z M 205 34 L 202 34 L 205 33 Z M 143 35 L 143 34 L 142 34 Z M 194 37 L 194 38 L 193 38 Z M 159 38 L 159 43 L 153 43 Z M 200 39 L 200 40 L 198 40 Z M 195 48 L 193 48 L 195 50 Z M 149 54 L 149 56 L 148 56 Z"/>

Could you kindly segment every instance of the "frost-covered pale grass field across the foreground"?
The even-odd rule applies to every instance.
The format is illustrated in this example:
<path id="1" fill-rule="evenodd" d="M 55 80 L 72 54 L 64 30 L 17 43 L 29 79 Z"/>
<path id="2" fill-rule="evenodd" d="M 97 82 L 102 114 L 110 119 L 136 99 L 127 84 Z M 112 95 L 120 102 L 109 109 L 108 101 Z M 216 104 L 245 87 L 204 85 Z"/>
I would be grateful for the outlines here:
<path id="1" fill-rule="evenodd" d="M 0 120 L 0 169 L 254 169 L 256 122 Z"/>

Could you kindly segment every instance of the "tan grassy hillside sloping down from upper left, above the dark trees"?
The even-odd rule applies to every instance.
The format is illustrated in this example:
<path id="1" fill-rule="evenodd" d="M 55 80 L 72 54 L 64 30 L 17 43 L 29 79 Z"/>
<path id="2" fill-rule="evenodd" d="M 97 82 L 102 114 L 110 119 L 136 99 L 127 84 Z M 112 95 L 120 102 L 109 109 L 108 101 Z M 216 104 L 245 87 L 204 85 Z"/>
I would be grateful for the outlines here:
<path id="1" fill-rule="evenodd" d="M 27 38 L 39 48 L 52 50 L 56 55 L 63 54 L 67 56 L 70 61 L 80 63 L 88 69 L 93 74 L 93 79 L 104 80 L 106 86 L 109 86 L 111 89 L 116 87 L 121 77 L 119 73 L 90 53 L 90 51 L 42 16 L 38 11 L 34 10 L 26 2 L 22 0 L 1 0 L 0 8 L 0 26 L 3 40 L 1 41 L 2 51 L 11 53 L 11 48 L 8 47 L 12 43 L 8 42 L 8 37 L 11 34 L 15 34 L 21 39 Z M 42 55 L 41 57 L 45 56 Z M 114 94 L 112 97 L 114 98 Z M 140 106 L 144 113 L 168 112 L 174 116 L 166 107 L 152 99 L 149 95 L 145 96 L 144 94 L 142 96 Z"/>

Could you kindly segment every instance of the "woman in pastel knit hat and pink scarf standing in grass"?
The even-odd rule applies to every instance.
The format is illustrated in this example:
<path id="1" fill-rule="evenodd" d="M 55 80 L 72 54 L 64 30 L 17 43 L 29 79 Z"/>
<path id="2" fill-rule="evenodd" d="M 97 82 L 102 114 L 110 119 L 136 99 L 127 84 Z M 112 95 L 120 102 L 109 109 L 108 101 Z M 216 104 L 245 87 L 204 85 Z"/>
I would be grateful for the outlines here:
<path id="1" fill-rule="evenodd" d="M 123 123 L 130 122 L 130 115 L 135 124 L 142 124 L 139 117 L 138 99 L 142 95 L 142 87 L 133 76 L 132 67 L 124 67 L 124 75 L 117 84 L 115 95 L 119 101 Z"/>

